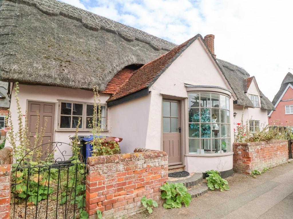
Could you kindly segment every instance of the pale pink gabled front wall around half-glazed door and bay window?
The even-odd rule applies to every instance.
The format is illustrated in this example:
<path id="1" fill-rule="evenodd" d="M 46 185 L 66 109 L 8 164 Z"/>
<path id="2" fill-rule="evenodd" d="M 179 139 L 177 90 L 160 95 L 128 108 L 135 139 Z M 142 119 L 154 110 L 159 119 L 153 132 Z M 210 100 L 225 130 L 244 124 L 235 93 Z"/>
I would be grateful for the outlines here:
<path id="1" fill-rule="evenodd" d="M 184 114 L 187 115 L 187 91 L 184 84 L 219 86 L 229 89 L 224 76 L 217 68 L 216 63 L 200 39 L 194 41 L 157 79 L 151 86 L 151 104 L 149 114 L 149 126 L 147 129 L 146 147 L 150 149 L 161 149 L 162 131 L 162 99 L 163 96 L 182 98 L 185 106 Z M 204 88 L 203 88 L 204 89 Z M 212 89 L 212 88 L 211 88 Z M 230 99 L 230 118 L 233 124 L 233 97 Z M 185 130 L 188 128 L 187 116 L 185 116 Z M 187 140 L 185 131 L 185 140 Z M 233 129 L 231 128 L 231 145 L 234 141 Z M 187 154 L 187 145 L 182 142 L 185 154 L 186 169 L 189 172 L 205 172 L 223 166 L 220 171 L 231 170 L 233 166 L 233 155 L 217 157 L 195 157 Z"/>

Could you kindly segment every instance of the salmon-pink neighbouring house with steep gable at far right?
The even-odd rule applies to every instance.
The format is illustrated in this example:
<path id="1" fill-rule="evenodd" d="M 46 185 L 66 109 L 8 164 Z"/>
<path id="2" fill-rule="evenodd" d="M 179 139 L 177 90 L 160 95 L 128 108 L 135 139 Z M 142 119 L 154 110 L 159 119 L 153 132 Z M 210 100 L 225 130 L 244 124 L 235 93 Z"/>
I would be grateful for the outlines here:
<path id="1" fill-rule="evenodd" d="M 270 111 L 269 123 L 280 120 L 285 125 L 293 124 L 293 75 L 288 72 L 282 81 L 280 90 L 275 95 L 273 101 L 276 110 Z M 279 124 L 279 121 L 278 121 Z"/>

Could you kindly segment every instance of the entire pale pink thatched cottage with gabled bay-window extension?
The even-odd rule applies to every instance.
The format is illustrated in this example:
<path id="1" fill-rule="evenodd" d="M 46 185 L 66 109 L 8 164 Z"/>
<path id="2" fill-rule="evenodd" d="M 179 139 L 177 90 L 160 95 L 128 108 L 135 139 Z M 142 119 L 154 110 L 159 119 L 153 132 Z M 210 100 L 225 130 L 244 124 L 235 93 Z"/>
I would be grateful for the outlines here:
<path id="1" fill-rule="evenodd" d="M 0 44 L 0 51 L 5 48 L 0 73 L 10 82 L 14 128 L 13 88 L 19 82 L 32 139 L 37 112 L 40 126 L 48 119 L 45 142 L 69 142 L 79 117 L 79 134 L 91 134 L 87 120 L 97 85 L 103 127 L 123 138 L 122 152 L 163 150 L 170 169 L 217 169 L 229 176 L 233 128 L 243 106 L 251 131 L 268 123 L 267 110 L 274 110 L 254 77 L 215 58 L 212 34 L 204 39 L 197 34 L 177 46 L 59 1 L 24 0 L 14 7 L 0 11 L 11 17 L 0 20 L 2 32 L 8 33 L 0 35 L 6 42 Z"/>

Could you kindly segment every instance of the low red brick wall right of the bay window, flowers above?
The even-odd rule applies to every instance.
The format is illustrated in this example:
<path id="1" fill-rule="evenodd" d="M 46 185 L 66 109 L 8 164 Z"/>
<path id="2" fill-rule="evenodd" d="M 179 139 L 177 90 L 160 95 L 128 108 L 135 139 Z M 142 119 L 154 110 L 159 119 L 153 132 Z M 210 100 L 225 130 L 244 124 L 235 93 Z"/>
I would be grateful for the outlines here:
<path id="1" fill-rule="evenodd" d="M 233 171 L 251 174 L 253 170 L 262 170 L 288 161 L 288 141 L 233 143 Z"/>

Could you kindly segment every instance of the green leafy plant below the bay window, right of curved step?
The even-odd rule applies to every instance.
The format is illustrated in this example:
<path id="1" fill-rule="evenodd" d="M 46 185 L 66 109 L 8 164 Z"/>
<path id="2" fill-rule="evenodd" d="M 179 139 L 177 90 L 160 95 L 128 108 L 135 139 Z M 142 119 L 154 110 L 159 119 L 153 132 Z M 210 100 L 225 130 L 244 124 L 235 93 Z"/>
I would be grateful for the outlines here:
<path id="1" fill-rule="evenodd" d="M 223 179 L 218 171 L 209 170 L 205 173 L 208 175 L 206 180 L 210 190 L 220 189 L 221 192 L 229 190 L 228 181 Z"/>

